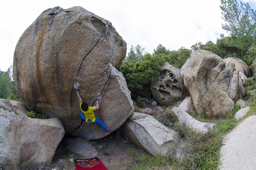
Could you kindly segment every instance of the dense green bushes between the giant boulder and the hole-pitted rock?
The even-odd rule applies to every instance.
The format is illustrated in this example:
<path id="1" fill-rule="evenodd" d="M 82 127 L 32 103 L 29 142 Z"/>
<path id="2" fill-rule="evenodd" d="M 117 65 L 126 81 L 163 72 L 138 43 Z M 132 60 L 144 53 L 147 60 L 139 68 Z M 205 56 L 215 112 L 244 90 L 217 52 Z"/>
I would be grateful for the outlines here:
<path id="1" fill-rule="evenodd" d="M 129 55 L 119 68 L 119 71 L 126 78 L 127 87 L 133 100 L 138 99 L 138 96 L 146 99 L 152 98 L 151 81 L 158 81 L 160 68 L 165 62 L 173 65 L 173 67 L 181 68 L 191 55 L 191 51 L 188 49 L 168 51 L 163 46 L 158 46 L 152 55 L 143 54 L 139 51 L 137 53 L 139 55 L 130 49 Z"/>

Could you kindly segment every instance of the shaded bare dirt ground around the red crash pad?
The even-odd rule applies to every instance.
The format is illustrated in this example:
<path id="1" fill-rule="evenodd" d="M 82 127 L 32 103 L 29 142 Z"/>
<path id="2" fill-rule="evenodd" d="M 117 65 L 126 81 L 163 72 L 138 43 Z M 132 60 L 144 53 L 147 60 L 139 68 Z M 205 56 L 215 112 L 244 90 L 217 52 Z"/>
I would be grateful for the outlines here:
<path id="1" fill-rule="evenodd" d="M 114 131 L 110 135 L 99 140 L 91 140 L 92 146 L 98 151 L 98 157 L 108 170 L 124 170 L 133 169 L 136 165 L 136 158 L 139 158 L 145 152 L 130 142 L 119 131 Z M 74 163 L 68 159 L 72 158 L 71 152 L 65 148 L 65 144 L 61 141 L 58 146 L 53 163 L 55 169 L 76 169 Z M 88 158 L 74 158 L 74 159 L 88 159 Z"/>

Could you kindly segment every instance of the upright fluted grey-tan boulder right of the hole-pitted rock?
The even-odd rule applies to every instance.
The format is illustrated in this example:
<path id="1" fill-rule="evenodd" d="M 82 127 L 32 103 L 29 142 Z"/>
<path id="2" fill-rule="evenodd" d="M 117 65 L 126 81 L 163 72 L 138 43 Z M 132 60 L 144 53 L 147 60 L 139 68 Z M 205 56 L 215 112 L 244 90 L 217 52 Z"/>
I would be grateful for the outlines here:
<path id="1" fill-rule="evenodd" d="M 193 51 L 182 66 L 181 75 L 199 115 L 224 115 L 245 95 L 239 93 L 245 93 L 241 89 L 245 89 L 246 76 L 235 69 L 234 62 L 226 63 L 208 51 Z"/>

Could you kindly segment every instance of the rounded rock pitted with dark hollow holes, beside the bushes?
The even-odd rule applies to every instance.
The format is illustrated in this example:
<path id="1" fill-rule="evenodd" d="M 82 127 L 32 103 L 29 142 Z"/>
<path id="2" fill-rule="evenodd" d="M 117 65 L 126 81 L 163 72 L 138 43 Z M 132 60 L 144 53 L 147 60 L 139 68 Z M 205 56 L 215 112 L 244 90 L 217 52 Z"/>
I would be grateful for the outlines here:
<path id="1" fill-rule="evenodd" d="M 175 105 L 184 96 L 185 87 L 180 69 L 165 63 L 159 73 L 159 81 L 152 81 L 151 93 L 159 105 Z"/>

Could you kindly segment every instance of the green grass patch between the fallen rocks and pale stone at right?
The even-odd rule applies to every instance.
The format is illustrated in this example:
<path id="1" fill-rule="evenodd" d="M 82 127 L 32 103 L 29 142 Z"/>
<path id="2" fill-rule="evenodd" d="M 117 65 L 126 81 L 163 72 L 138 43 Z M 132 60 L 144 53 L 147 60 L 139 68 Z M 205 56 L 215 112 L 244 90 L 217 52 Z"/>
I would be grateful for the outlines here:
<path id="1" fill-rule="evenodd" d="M 255 114 L 256 98 L 254 96 L 251 96 L 248 106 L 251 109 L 247 115 Z M 128 154 L 137 162 L 130 169 L 218 169 L 223 137 L 242 121 L 242 119 L 239 119 L 239 121 L 234 119 L 234 115 L 239 109 L 241 109 L 241 106 L 236 105 L 233 112 L 226 114 L 225 118 L 219 117 L 218 119 L 207 119 L 193 113 L 192 117 L 199 121 L 216 124 L 216 128 L 204 134 L 192 130 L 185 124 L 179 124 L 176 115 L 171 112 L 171 109 L 166 109 L 163 114 L 155 118 L 175 130 L 180 140 L 185 142 L 183 159 L 152 156 L 148 153 L 143 153 L 138 157 L 135 153 L 130 152 Z"/>

